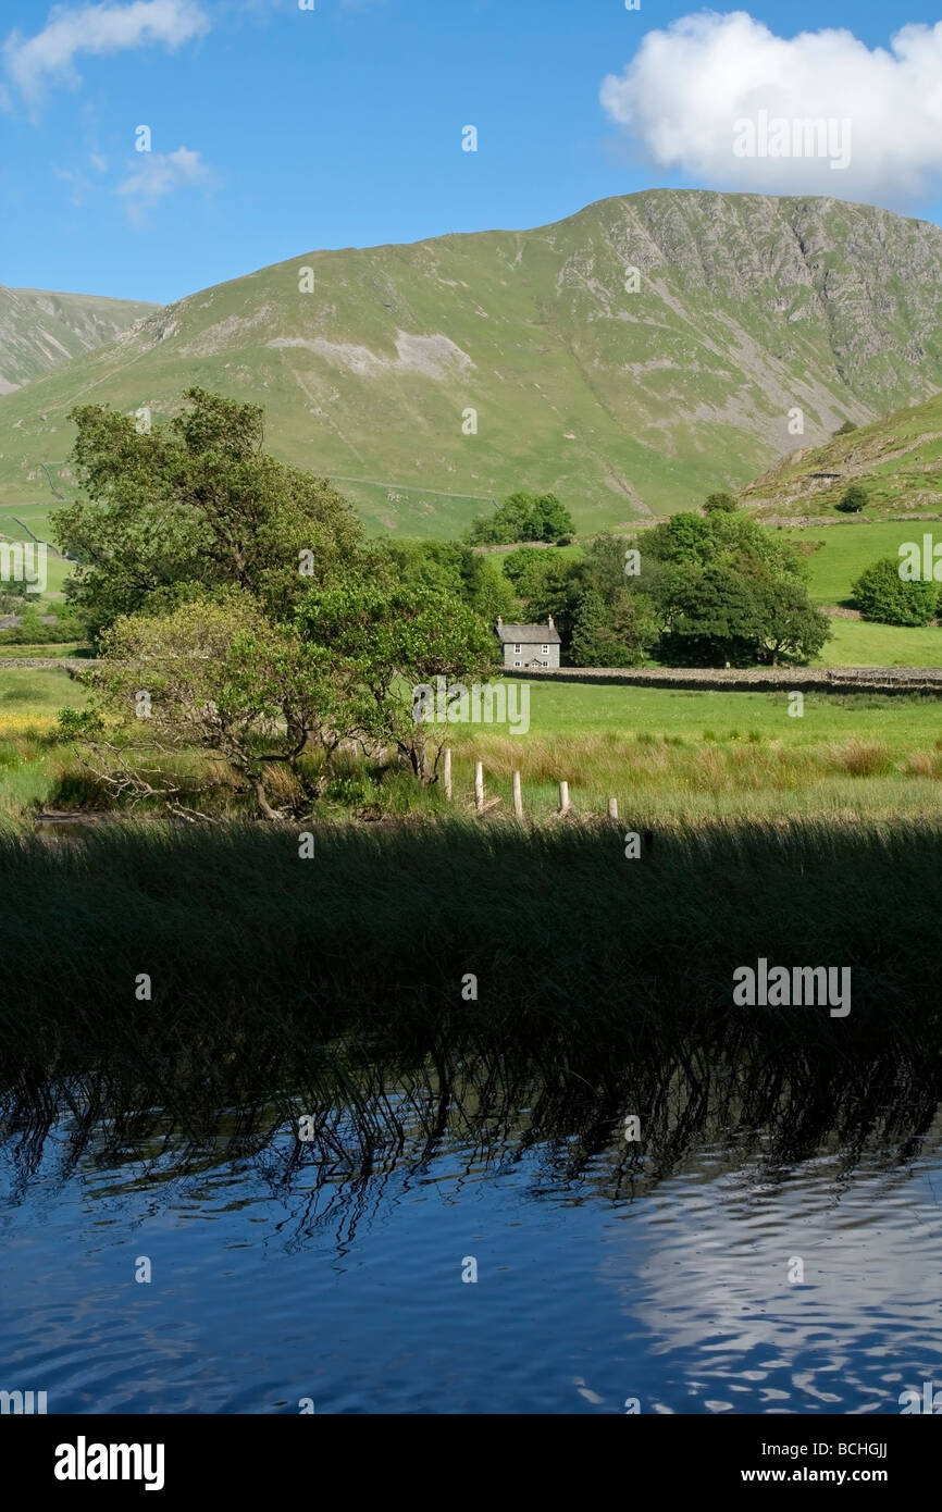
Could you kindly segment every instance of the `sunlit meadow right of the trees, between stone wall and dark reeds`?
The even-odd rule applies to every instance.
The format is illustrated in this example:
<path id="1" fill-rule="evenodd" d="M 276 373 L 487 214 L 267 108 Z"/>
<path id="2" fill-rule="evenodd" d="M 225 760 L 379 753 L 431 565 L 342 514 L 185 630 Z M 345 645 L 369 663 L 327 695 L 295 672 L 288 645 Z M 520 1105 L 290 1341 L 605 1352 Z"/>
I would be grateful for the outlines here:
<path id="1" fill-rule="evenodd" d="M 712 692 L 534 683 L 529 730 L 455 726 L 455 783 L 467 801 L 473 761 L 487 792 L 511 807 L 550 810 L 558 782 L 584 812 L 609 797 L 632 823 L 708 816 L 942 809 L 942 705 L 931 697 L 806 694 L 789 717 L 785 692 Z"/>

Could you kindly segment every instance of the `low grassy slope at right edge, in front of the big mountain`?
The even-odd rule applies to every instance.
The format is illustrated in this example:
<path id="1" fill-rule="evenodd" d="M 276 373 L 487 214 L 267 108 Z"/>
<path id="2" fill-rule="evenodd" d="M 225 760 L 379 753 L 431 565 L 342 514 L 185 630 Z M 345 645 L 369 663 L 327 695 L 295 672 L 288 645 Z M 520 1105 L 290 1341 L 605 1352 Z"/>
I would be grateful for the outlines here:
<path id="1" fill-rule="evenodd" d="M 859 517 L 835 510 L 851 482 L 862 484 L 869 497 Z M 942 516 L 942 395 L 824 446 L 791 452 L 742 488 L 739 499 L 782 522 Z"/>

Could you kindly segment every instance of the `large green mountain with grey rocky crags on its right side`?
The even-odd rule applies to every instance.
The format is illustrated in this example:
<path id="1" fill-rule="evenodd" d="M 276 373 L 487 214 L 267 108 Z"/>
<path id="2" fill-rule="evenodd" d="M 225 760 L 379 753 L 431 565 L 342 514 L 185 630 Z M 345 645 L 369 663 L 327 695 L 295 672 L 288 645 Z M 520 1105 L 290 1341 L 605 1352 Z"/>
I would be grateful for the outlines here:
<path id="1" fill-rule="evenodd" d="M 201 384 L 263 404 L 271 449 L 373 529 L 449 535 L 519 487 L 624 525 L 747 484 L 795 408 L 813 446 L 942 389 L 940 269 L 925 221 L 696 191 L 305 253 L 0 399 L 0 503 L 35 502 L 41 463 L 68 493 L 77 401 L 157 419 Z"/>

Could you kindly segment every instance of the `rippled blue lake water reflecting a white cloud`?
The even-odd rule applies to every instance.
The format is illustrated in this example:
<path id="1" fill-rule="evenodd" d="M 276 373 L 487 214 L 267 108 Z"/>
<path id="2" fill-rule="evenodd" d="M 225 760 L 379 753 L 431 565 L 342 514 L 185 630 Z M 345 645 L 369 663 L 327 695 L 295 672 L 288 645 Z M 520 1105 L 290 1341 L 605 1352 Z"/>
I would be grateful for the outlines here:
<path id="1" fill-rule="evenodd" d="M 8 1131 L 0 1388 L 50 1412 L 898 1414 L 942 1380 L 939 1117 L 788 1163 L 736 1131 L 665 1167 L 617 1125 L 587 1152 L 472 1110 L 428 1140 L 408 1107 L 366 1160 L 342 1120 L 198 1154 Z"/>

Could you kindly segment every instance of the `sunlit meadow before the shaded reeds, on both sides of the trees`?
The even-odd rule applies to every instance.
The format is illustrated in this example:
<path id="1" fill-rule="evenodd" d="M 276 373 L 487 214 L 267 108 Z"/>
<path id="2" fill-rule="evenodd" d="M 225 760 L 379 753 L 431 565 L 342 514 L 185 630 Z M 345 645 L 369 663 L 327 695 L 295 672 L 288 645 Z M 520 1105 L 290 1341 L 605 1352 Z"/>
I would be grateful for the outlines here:
<path id="1" fill-rule="evenodd" d="M 942 810 L 942 708 L 931 697 L 812 692 L 794 718 L 785 692 L 534 683 L 529 694 L 525 733 L 451 727 L 454 807 L 440 786 L 419 789 L 402 771 L 380 779 L 351 758 L 322 803 L 325 816 L 466 812 L 476 759 L 485 767 L 487 797 L 499 800 L 497 816 L 513 812 L 514 770 L 534 816 L 555 810 L 561 779 L 579 813 L 603 813 L 615 797 L 623 818 L 638 824 Z M 85 697 L 65 671 L 0 667 L 0 812 L 8 818 L 23 820 L 36 804 L 109 806 L 82 771 L 79 750 L 54 738 L 57 711 Z M 209 773 L 197 751 L 174 762 L 194 780 Z M 283 780 L 272 774 L 275 800 Z M 253 812 L 231 783 L 212 804 L 231 816 Z"/>

